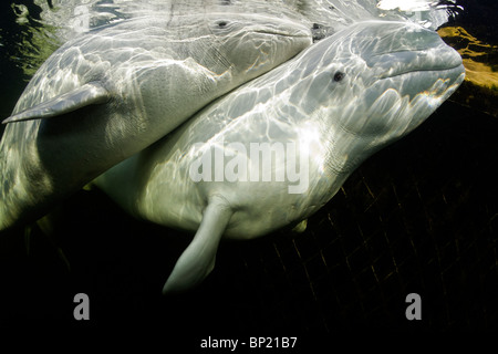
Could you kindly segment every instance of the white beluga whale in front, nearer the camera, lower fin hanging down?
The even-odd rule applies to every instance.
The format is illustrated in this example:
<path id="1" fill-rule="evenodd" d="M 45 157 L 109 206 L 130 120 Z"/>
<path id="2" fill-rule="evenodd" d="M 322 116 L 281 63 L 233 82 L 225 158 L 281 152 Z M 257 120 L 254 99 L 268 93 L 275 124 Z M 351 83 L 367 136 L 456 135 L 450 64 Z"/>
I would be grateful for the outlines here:
<path id="1" fill-rule="evenodd" d="M 221 238 L 304 220 L 464 76 L 461 58 L 436 32 L 359 22 L 212 102 L 94 183 L 137 218 L 195 231 L 163 289 L 183 291 L 212 270 Z"/>

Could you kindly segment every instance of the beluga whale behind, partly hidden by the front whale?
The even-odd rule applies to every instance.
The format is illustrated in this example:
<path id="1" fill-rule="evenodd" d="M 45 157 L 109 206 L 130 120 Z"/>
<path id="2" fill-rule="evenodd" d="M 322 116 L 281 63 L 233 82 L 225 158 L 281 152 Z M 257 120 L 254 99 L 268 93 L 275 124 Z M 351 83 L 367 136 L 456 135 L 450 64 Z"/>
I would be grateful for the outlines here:
<path id="1" fill-rule="evenodd" d="M 0 230 L 43 216 L 311 41 L 286 19 L 199 12 L 136 18 L 62 45 L 4 121 Z"/>

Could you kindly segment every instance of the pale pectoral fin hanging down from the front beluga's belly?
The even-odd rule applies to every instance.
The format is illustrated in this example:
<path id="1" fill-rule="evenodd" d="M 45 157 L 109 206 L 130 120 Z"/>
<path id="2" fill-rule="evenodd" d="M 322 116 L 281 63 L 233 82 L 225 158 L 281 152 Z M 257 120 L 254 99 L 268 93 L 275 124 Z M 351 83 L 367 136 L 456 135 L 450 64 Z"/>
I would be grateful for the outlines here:
<path id="1" fill-rule="evenodd" d="M 210 200 L 193 241 L 175 264 L 163 294 L 180 292 L 199 284 L 215 268 L 216 251 L 232 209 L 224 198 Z"/>

